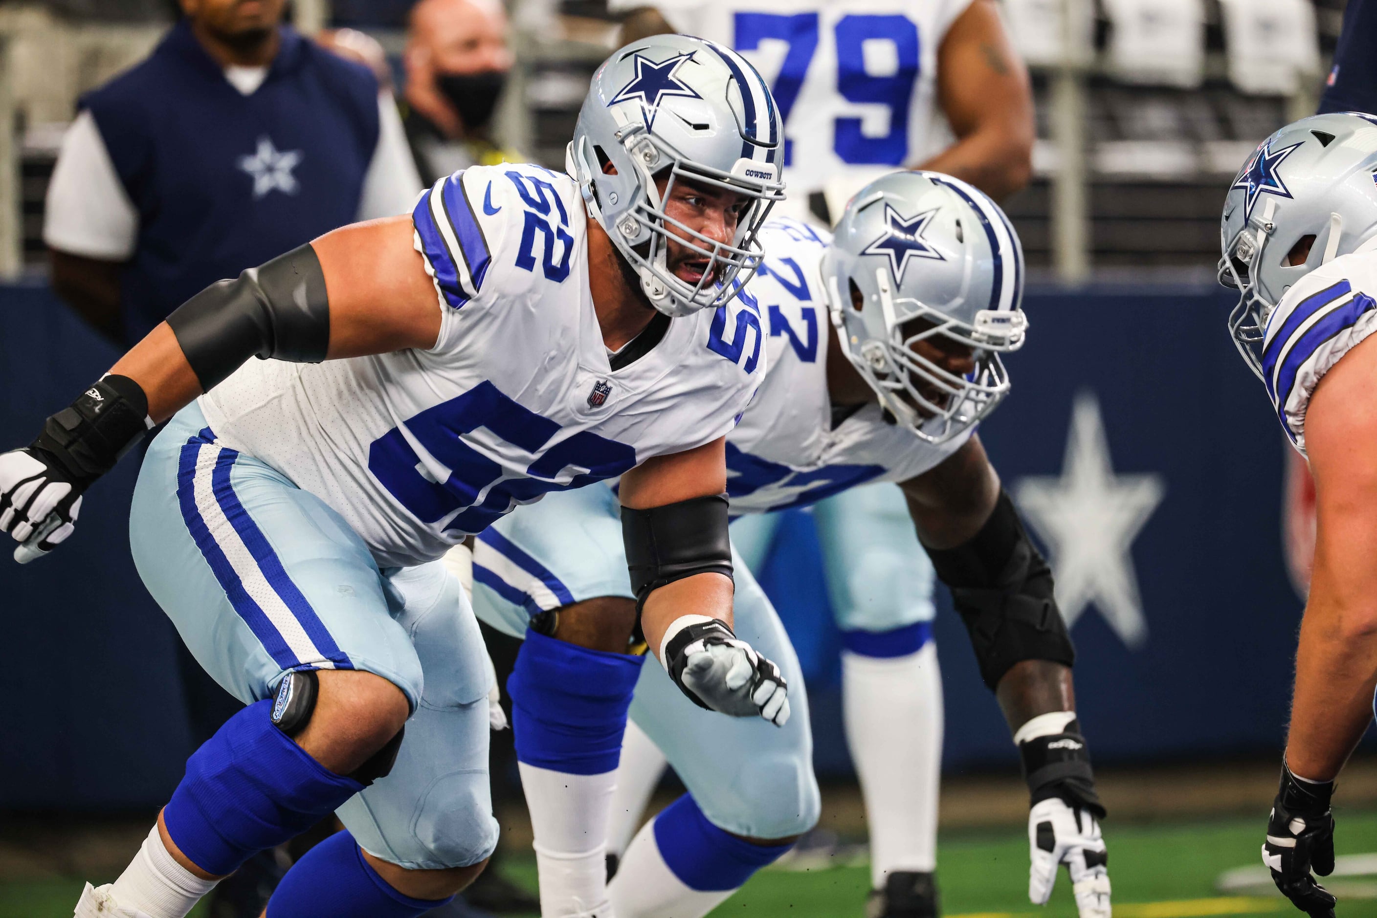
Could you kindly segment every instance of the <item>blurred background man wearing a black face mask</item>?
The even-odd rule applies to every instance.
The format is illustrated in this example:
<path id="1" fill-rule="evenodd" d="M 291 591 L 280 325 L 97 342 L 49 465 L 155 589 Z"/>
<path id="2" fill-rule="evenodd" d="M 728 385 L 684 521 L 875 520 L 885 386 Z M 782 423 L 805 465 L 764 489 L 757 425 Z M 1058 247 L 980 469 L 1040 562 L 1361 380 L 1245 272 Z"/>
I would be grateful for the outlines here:
<path id="1" fill-rule="evenodd" d="M 492 136 L 512 67 L 500 0 L 420 0 L 403 63 L 406 139 L 427 184 L 471 165 L 519 158 Z"/>

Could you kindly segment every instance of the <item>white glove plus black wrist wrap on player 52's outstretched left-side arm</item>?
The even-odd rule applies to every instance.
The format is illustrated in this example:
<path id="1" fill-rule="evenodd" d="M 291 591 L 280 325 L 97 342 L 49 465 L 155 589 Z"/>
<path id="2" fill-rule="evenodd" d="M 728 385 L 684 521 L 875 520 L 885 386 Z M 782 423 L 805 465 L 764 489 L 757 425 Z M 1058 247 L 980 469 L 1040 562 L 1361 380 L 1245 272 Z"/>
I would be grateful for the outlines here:
<path id="1" fill-rule="evenodd" d="M 107 376 L 47 420 L 21 450 L 0 453 L 0 533 L 21 545 L 26 564 L 72 535 L 81 494 L 110 471 L 153 425 L 143 389 Z"/>

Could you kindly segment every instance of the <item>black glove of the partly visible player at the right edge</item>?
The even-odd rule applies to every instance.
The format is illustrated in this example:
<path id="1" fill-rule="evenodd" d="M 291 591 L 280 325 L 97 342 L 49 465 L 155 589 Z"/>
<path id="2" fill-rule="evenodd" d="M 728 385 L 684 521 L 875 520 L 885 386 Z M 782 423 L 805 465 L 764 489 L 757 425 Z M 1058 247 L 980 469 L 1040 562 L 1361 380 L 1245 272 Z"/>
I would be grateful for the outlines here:
<path id="1" fill-rule="evenodd" d="M 1311 918 L 1334 918 L 1338 901 L 1311 877 L 1312 870 L 1321 877 L 1334 870 L 1333 794 L 1334 782 L 1301 780 L 1283 762 L 1263 842 L 1263 863 L 1272 871 L 1272 882 Z"/>

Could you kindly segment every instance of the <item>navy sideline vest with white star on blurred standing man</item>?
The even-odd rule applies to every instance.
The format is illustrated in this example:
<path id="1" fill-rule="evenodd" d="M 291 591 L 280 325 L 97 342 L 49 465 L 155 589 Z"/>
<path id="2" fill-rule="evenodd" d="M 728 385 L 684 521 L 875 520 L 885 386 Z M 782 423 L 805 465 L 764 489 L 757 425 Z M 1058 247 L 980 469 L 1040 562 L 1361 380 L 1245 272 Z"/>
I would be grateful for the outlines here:
<path id="1" fill-rule="evenodd" d="M 87 94 L 139 213 L 120 285 L 135 344 L 222 278 L 351 223 L 377 146 L 377 80 L 282 26 L 263 85 L 241 95 L 183 19 Z"/>

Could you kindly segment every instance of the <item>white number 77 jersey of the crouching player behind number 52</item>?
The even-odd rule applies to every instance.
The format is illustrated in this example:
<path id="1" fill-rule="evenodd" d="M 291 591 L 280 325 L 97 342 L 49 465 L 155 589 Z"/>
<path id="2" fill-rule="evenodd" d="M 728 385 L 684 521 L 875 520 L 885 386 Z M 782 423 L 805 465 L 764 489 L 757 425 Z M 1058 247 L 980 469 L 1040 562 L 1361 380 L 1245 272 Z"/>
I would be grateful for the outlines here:
<path id="1" fill-rule="evenodd" d="M 828 300 L 819 266 L 830 239 L 806 223 L 771 220 L 764 266 L 741 299 L 768 321 L 770 372 L 727 435 L 731 512 L 812 504 L 865 482 L 903 482 L 952 456 L 969 432 L 934 446 L 884 420 L 876 402 L 833 427 L 828 396 Z"/>

